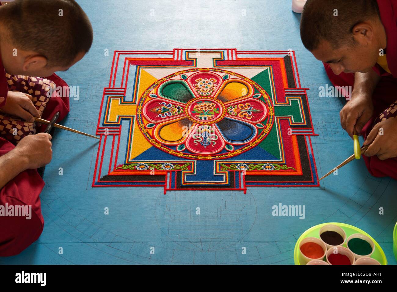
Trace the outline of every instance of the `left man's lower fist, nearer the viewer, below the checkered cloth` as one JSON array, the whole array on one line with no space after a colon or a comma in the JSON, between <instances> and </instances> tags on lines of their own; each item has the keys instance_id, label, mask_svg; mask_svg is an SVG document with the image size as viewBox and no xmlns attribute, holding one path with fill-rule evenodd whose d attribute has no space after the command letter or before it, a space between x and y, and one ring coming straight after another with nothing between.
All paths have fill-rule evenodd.
<instances>
[{"instance_id":1,"label":"left man's lower fist, nearer the viewer, below the checkered cloth","mask_svg":"<svg viewBox=\"0 0 397 292\"><path fill-rule=\"evenodd\" d=\"M17 152L21 163L26 163L26 169L42 167L52 159L51 138L47 133L25 136L13 151Z\"/></svg>"}]
</instances>

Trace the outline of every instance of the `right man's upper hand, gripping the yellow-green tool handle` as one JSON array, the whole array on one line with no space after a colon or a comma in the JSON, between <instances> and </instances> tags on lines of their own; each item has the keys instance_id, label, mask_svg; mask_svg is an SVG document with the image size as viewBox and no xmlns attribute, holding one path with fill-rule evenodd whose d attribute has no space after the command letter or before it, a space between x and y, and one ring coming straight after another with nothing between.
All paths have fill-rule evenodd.
<instances>
[{"instance_id":1,"label":"right man's upper hand, gripping the yellow-green tool handle","mask_svg":"<svg viewBox=\"0 0 397 292\"><path fill-rule=\"evenodd\" d=\"M354 134L360 134L373 112L372 94L353 91L351 100L339 113L341 126L353 138Z\"/></svg>"}]
</instances>

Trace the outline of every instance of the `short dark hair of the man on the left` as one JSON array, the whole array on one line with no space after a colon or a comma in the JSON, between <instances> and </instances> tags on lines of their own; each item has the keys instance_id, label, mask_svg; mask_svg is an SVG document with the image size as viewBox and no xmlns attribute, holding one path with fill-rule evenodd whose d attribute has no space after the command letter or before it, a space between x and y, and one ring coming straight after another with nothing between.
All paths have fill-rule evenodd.
<instances>
[{"instance_id":1,"label":"short dark hair of the man on the left","mask_svg":"<svg viewBox=\"0 0 397 292\"><path fill-rule=\"evenodd\" d=\"M93 42L91 23L74 0L15 0L0 6L0 21L7 40L43 55L48 66L71 65Z\"/></svg>"}]
</instances>

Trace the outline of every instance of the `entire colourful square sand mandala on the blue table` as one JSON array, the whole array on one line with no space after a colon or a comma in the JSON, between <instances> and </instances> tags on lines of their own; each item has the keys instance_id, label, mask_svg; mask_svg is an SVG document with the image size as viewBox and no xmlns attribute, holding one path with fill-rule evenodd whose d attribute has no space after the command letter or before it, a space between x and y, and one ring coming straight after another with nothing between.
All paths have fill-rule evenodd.
<instances>
[{"instance_id":1,"label":"entire colourful square sand mandala on the blue table","mask_svg":"<svg viewBox=\"0 0 397 292\"><path fill-rule=\"evenodd\" d=\"M110 76L94 187L318 186L291 52L116 51Z\"/></svg>"}]
</instances>

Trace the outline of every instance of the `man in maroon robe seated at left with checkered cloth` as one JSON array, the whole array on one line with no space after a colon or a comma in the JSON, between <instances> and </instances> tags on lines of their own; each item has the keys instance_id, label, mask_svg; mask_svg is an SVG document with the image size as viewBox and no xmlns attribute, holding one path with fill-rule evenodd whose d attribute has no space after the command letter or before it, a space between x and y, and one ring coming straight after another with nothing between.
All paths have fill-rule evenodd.
<instances>
[{"instance_id":1,"label":"man in maroon robe seated at left with checkered cloth","mask_svg":"<svg viewBox=\"0 0 397 292\"><path fill-rule=\"evenodd\" d=\"M63 15L59 15L60 10ZM15 88L7 83L6 72L50 76L46 79L56 86L67 86L54 72L66 71L81 60L92 41L91 23L74 0L15 0L0 6L1 113L28 122L40 116L31 95L10 91ZM47 102L42 118L51 119L57 111L60 119L67 115L68 96L55 93ZM50 140L50 134L32 134L14 146L0 136L0 256L19 254L43 230L39 194L44 181L37 168L52 158Z\"/></svg>"}]
</instances>

